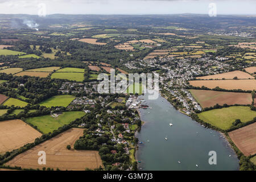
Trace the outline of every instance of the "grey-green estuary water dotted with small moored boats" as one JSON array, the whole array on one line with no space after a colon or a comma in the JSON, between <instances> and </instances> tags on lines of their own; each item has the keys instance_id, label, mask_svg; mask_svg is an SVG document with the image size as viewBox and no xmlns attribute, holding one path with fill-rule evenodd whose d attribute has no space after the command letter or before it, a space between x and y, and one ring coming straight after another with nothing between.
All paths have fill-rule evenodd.
<instances>
[{"instance_id":1,"label":"grey-green estuary water dotted with small moored boats","mask_svg":"<svg viewBox=\"0 0 256 182\"><path fill-rule=\"evenodd\" d=\"M136 137L138 168L142 170L238 170L239 160L221 133L206 129L177 111L165 98L147 100L152 109L141 109L144 125ZM170 126L172 123L172 126ZM165 139L167 138L167 140ZM217 164L209 164L210 151ZM211 160L212 161L212 160Z\"/></svg>"}]
</instances>

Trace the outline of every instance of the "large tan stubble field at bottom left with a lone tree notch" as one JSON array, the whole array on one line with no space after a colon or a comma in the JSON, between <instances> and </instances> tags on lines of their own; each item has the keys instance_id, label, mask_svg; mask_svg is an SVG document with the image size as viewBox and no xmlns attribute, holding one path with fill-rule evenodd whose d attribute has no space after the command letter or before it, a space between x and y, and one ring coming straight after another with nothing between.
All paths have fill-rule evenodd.
<instances>
[{"instance_id":1,"label":"large tan stubble field at bottom left with a lone tree notch","mask_svg":"<svg viewBox=\"0 0 256 182\"><path fill-rule=\"evenodd\" d=\"M5 165L22 168L59 168L60 170L82 171L85 168L98 168L102 161L98 151L68 150L67 145L73 148L76 140L83 135L83 129L69 129L46 142L31 148L16 156ZM38 164L38 152L46 152L46 164Z\"/></svg>"}]
</instances>

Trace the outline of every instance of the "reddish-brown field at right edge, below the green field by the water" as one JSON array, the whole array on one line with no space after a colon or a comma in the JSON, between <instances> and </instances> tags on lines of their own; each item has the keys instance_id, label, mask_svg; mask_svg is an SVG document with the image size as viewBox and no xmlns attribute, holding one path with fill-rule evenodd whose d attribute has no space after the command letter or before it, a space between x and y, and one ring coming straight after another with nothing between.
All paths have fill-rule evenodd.
<instances>
[{"instance_id":1,"label":"reddish-brown field at right edge, below the green field by the water","mask_svg":"<svg viewBox=\"0 0 256 182\"><path fill-rule=\"evenodd\" d=\"M231 131L228 134L245 156L256 153L256 123Z\"/></svg>"}]
</instances>

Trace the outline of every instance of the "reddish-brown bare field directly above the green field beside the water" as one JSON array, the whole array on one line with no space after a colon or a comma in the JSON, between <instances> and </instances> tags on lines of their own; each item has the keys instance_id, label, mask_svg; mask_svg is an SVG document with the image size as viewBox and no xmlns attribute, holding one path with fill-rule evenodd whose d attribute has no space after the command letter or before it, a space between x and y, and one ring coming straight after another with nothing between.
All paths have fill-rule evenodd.
<instances>
[{"instance_id":1,"label":"reddish-brown bare field directly above the green field beside the water","mask_svg":"<svg viewBox=\"0 0 256 182\"><path fill-rule=\"evenodd\" d=\"M213 90L189 90L199 104L205 108L218 105L251 104L250 93L218 92Z\"/></svg>"}]
</instances>

